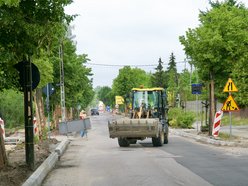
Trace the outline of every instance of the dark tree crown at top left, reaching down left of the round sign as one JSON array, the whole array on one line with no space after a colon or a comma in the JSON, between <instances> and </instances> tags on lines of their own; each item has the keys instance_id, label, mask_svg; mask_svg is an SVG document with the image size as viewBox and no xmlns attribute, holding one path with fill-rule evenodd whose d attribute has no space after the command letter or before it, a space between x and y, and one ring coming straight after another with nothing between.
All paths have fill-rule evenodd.
<instances>
[{"instance_id":1,"label":"dark tree crown at top left, reaching down left of the round sign","mask_svg":"<svg viewBox=\"0 0 248 186\"><path fill-rule=\"evenodd\" d=\"M15 63L39 54L40 49L48 51L52 45L58 46L66 25L75 17L64 12L64 7L70 3L72 0L1 1L0 53L3 63L0 76L4 78L3 82L8 82L5 87L17 84Z\"/></svg>"}]
</instances>

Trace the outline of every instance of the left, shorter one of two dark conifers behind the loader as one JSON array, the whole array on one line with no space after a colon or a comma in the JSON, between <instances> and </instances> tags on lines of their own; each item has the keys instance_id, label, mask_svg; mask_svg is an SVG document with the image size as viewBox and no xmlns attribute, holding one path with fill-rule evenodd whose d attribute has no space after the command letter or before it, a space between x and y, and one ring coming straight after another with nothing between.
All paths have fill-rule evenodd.
<instances>
[{"instance_id":1,"label":"left, shorter one of two dark conifers behind the loader","mask_svg":"<svg viewBox=\"0 0 248 186\"><path fill-rule=\"evenodd\" d=\"M163 87L167 88L167 76L165 71L163 70L163 62L161 58L158 60L158 66L155 68L156 72L152 74L151 84L153 87Z\"/></svg>"}]
</instances>

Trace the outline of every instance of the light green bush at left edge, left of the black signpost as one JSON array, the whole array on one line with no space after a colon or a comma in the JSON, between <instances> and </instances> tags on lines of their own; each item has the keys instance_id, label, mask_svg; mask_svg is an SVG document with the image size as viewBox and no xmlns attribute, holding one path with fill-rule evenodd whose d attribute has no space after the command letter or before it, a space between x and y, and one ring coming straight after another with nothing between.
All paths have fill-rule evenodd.
<instances>
[{"instance_id":1,"label":"light green bush at left edge, left of the black signpost","mask_svg":"<svg viewBox=\"0 0 248 186\"><path fill-rule=\"evenodd\" d=\"M0 92L0 112L6 128L24 126L23 94L15 90Z\"/></svg>"}]
</instances>

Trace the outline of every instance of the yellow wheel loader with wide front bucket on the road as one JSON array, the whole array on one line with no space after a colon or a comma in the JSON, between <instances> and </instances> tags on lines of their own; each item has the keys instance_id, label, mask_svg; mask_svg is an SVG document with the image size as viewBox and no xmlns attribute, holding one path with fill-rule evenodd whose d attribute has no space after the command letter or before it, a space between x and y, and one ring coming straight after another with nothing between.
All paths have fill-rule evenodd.
<instances>
[{"instance_id":1,"label":"yellow wheel loader with wide front bucket on the road","mask_svg":"<svg viewBox=\"0 0 248 186\"><path fill-rule=\"evenodd\" d=\"M120 147L152 138L155 147L168 143L168 107L163 88L133 88L130 117L108 121L110 138Z\"/></svg>"}]
</instances>

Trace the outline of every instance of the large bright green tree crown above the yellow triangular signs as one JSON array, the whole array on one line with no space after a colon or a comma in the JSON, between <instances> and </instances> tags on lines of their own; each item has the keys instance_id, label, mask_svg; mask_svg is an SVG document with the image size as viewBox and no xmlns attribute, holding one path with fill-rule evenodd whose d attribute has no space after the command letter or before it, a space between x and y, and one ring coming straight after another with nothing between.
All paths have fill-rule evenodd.
<instances>
[{"instance_id":1,"label":"large bright green tree crown above the yellow triangular signs","mask_svg":"<svg viewBox=\"0 0 248 186\"><path fill-rule=\"evenodd\" d=\"M237 100L241 101L241 107L245 107L248 105L247 83L244 83L248 78L248 10L233 0L211 2L210 5L212 9L200 12L199 27L189 29L186 36L179 38L180 42L198 69L200 78L208 82L209 75L212 75L215 93L222 93L228 77L239 82ZM223 94L216 96L221 101L225 97Z\"/></svg>"}]
</instances>

